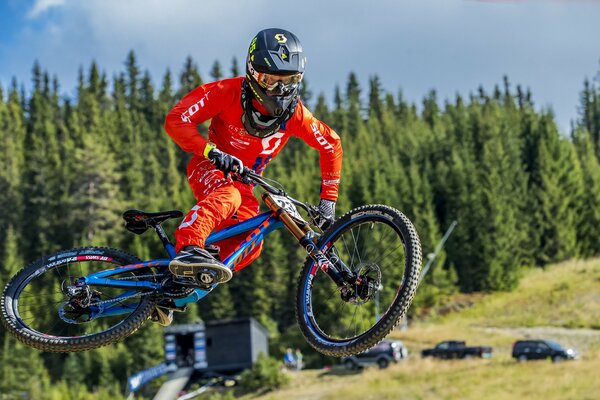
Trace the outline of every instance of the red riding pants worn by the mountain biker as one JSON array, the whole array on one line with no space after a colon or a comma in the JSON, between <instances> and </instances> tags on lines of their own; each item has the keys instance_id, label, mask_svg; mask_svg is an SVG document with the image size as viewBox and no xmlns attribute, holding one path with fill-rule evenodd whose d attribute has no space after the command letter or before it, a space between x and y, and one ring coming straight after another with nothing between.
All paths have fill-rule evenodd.
<instances>
[{"instance_id":1,"label":"red riding pants worn by the mountain biker","mask_svg":"<svg viewBox=\"0 0 600 400\"><path fill-rule=\"evenodd\" d=\"M224 179L208 160L194 157L187 167L188 182L198 204L175 231L176 251L185 246L204 247L204 241L215 229L221 230L258 214L258 200L252 188L231 179ZM229 256L245 239L247 233L215 243L220 247L221 259ZM259 256L262 243L256 246L243 260L236 264L240 270Z\"/></svg>"}]
</instances>

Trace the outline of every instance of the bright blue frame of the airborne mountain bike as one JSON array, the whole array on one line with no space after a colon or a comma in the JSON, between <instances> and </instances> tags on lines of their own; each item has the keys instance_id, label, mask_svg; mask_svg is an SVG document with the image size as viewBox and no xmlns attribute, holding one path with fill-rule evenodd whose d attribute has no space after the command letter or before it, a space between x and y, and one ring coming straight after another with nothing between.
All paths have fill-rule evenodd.
<instances>
[{"instance_id":1,"label":"bright blue frame of the airborne mountain bike","mask_svg":"<svg viewBox=\"0 0 600 400\"><path fill-rule=\"evenodd\" d=\"M221 240L229 239L233 236L250 232L242 241L242 243L240 243L240 245L223 260L223 264L225 264L232 270L235 270L235 266L239 264L240 261L243 260L244 257L246 257L254 248L256 248L256 246L258 246L269 233L283 226L283 222L276 215L276 213L269 211L259 214L245 221L242 221L240 223L237 223L235 225L232 225L230 227L227 227L225 229L222 229L220 231L213 232L211 235L208 236L205 244L211 245ZM128 308L126 306L120 306L117 304L121 300L131 297L135 293L139 292L140 289L156 290L161 287L159 283L150 281L123 281L111 279L113 275L123 274L130 271L136 271L143 268L156 268L159 272L164 272L164 270L168 268L171 259L175 257L175 246L173 246L173 244L170 242L163 228L160 225L154 226L154 229L156 230L157 234L163 242L163 246L169 256L168 259L155 259L143 261L141 263L136 264L123 265L109 270L96 272L81 278L82 284L90 286L110 286L135 289L124 292L120 296L117 296L114 299L112 299L111 303L114 303L115 305L111 305L106 308L97 307L97 310L92 309L93 317L98 317L100 315L111 316L130 313L131 308ZM213 285L211 290L214 289L216 286L216 284ZM196 302L202 299L208 293L210 293L210 290L194 289L194 291L189 296L181 299L175 299L174 302L177 307L182 307L187 303Z\"/></svg>"}]
</instances>

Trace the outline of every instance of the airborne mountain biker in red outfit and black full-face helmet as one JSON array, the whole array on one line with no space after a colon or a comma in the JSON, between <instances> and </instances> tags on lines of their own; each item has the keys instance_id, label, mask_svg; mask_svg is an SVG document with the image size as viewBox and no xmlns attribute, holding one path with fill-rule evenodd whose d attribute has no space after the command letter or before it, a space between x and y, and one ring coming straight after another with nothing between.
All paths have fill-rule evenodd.
<instances>
[{"instance_id":1,"label":"airborne mountain biker in red outfit and black full-face helmet","mask_svg":"<svg viewBox=\"0 0 600 400\"><path fill-rule=\"evenodd\" d=\"M231 279L232 271L204 248L205 240L212 230L259 211L252 186L232 180L231 173L244 166L262 173L292 136L320 152L319 209L325 216L320 223L334 218L342 147L339 136L313 117L299 98L305 63L296 35L284 29L262 30L250 43L245 77L199 86L168 113L165 130L194 154L187 177L198 201L175 232L177 255L169 264L175 276L197 278L204 285ZM209 119L206 140L197 125ZM237 236L216 243L220 256L231 254L242 240ZM260 250L260 245L255 247L235 270L250 264Z\"/></svg>"}]
</instances>

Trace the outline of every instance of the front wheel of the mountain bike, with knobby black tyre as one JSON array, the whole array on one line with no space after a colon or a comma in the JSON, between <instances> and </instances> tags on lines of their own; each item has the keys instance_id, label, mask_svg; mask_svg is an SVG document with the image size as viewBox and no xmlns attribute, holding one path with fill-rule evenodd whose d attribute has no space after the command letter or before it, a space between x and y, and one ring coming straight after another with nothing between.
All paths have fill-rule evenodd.
<instances>
[{"instance_id":1,"label":"front wheel of the mountain bike, with knobby black tyre","mask_svg":"<svg viewBox=\"0 0 600 400\"><path fill-rule=\"evenodd\" d=\"M361 353L406 315L421 270L421 244L410 220L384 205L355 208L317 242L328 259L341 260L352 282L340 289L307 259L296 294L296 318L317 351L334 356Z\"/></svg>"}]
</instances>

